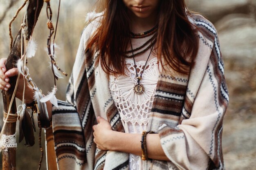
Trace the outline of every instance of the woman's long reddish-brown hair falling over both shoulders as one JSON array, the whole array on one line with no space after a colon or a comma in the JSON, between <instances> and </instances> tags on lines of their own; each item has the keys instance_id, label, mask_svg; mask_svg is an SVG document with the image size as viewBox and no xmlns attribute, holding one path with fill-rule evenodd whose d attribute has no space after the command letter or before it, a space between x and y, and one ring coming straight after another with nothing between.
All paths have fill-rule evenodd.
<instances>
[{"instance_id":1,"label":"woman's long reddish-brown hair falling over both shoulders","mask_svg":"<svg viewBox=\"0 0 256 170\"><path fill-rule=\"evenodd\" d=\"M87 49L97 46L101 66L106 73L124 74L124 52L130 36L128 9L122 0L104 2L103 19L88 41ZM188 15L191 14L184 0L159 1L155 44L157 57L162 66L164 63L168 64L180 73L189 73L189 68L198 53L197 29L188 19Z\"/></svg>"}]
</instances>

